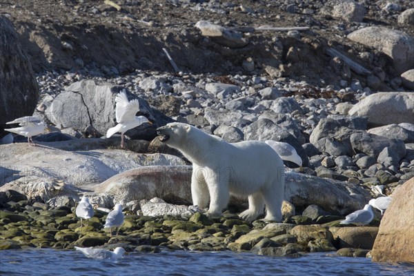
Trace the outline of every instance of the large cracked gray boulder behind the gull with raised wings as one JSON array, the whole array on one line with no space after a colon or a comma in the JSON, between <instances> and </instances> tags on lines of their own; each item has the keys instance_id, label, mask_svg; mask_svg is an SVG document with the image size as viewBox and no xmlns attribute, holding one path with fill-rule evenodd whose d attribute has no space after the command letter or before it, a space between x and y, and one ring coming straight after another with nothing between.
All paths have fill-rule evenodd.
<instances>
[{"instance_id":1,"label":"large cracked gray boulder behind the gull with raised wings","mask_svg":"<svg viewBox=\"0 0 414 276\"><path fill-rule=\"evenodd\" d=\"M108 128L115 126L115 97L123 90L122 86L111 83L97 83L84 79L72 83L65 92L60 93L46 110L50 121L63 128L84 130L93 126L100 135L105 135ZM164 115L150 108L148 103L127 91L128 99L138 99L139 113L155 121L154 126L144 124L128 130L126 135L133 139L152 140L156 135L156 126L162 126L169 121Z\"/></svg>"}]
</instances>

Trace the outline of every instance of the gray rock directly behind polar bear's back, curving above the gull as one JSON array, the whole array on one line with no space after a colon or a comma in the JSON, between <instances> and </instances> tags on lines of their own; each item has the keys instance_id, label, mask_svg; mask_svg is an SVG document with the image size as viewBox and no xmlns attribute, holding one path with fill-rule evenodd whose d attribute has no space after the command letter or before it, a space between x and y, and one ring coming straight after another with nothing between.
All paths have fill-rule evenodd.
<instances>
[{"instance_id":1,"label":"gray rock directly behind polar bear's back, curving above the gull","mask_svg":"<svg viewBox=\"0 0 414 276\"><path fill-rule=\"evenodd\" d=\"M253 124L246 126L243 132L245 140L273 140L290 144L290 146L295 148L297 155L304 161L303 166L308 166L308 157L299 141L287 130L273 123L273 121L269 119L258 119Z\"/></svg>"}]
</instances>

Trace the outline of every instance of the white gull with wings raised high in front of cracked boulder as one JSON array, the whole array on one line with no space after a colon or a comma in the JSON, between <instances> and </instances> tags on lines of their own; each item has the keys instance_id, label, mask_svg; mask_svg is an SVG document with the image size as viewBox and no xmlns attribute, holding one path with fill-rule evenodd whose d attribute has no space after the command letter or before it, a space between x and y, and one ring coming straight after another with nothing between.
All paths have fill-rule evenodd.
<instances>
[{"instance_id":1,"label":"white gull with wings raised high in front of cracked boulder","mask_svg":"<svg viewBox=\"0 0 414 276\"><path fill-rule=\"evenodd\" d=\"M128 101L125 90L118 93L117 97L115 97L115 103L115 119L117 119L118 124L108 129L106 138L111 137L117 132L121 132L121 148L124 148L124 133L127 130L141 126L144 123L152 123L144 116L135 116L139 111L139 101L137 99Z\"/></svg>"}]
</instances>

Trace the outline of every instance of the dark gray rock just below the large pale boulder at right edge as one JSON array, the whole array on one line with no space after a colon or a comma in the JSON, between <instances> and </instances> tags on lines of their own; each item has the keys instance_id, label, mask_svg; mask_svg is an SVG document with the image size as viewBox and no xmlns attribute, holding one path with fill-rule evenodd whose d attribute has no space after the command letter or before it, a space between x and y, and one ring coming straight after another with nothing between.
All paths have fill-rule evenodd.
<instances>
[{"instance_id":1,"label":"dark gray rock just below the large pale boulder at right edge","mask_svg":"<svg viewBox=\"0 0 414 276\"><path fill-rule=\"evenodd\" d=\"M404 142L400 139L387 139L386 137L373 135L370 133L354 133L351 135L351 144L355 152L363 152L375 159L378 158L380 152L390 147L402 159L406 154Z\"/></svg>"}]
</instances>

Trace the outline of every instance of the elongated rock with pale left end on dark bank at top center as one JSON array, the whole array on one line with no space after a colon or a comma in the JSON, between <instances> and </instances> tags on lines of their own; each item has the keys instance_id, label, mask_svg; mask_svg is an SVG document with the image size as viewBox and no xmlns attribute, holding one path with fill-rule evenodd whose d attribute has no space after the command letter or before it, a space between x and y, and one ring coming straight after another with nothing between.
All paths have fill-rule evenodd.
<instances>
[{"instance_id":1,"label":"elongated rock with pale left end on dark bank at top center","mask_svg":"<svg viewBox=\"0 0 414 276\"><path fill-rule=\"evenodd\" d=\"M228 30L208 21L198 21L195 24L195 27L201 30L201 34L204 35L204 37L210 37L215 43L219 43L229 48L242 48L248 43L247 39L244 39L240 32Z\"/></svg>"}]
</instances>

